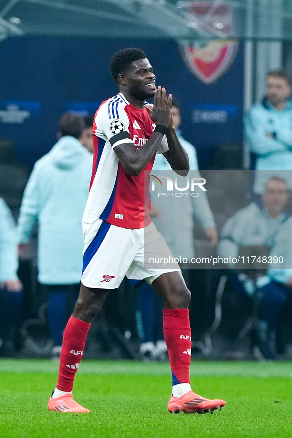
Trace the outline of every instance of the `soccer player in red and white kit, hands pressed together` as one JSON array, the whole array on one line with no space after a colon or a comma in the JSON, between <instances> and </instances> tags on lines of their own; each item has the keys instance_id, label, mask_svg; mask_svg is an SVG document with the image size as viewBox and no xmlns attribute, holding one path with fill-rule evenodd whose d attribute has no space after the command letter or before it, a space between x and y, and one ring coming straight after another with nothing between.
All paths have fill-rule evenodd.
<instances>
[{"instance_id":1,"label":"soccer player in red and white kit, hands pressed together","mask_svg":"<svg viewBox=\"0 0 292 438\"><path fill-rule=\"evenodd\" d=\"M191 297L179 266L146 269L143 263L153 242L160 244L161 254L172 256L149 218L149 176L145 183L143 170L151 170L158 149L172 169L181 175L189 170L188 156L172 126L171 95L167 99L165 88L156 88L152 66L140 49L117 52L110 70L120 92L103 102L95 115L93 173L83 216L81 288L64 331L57 386L48 409L89 412L74 401L73 380L90 321L109 289L117 288L126 275L145 279L164 300L163 328L173 381L168 410L212 412L225 401L205 399L190 386ZM145 103L152 97L153 107Z\"/></svg>"}]
</instances>

